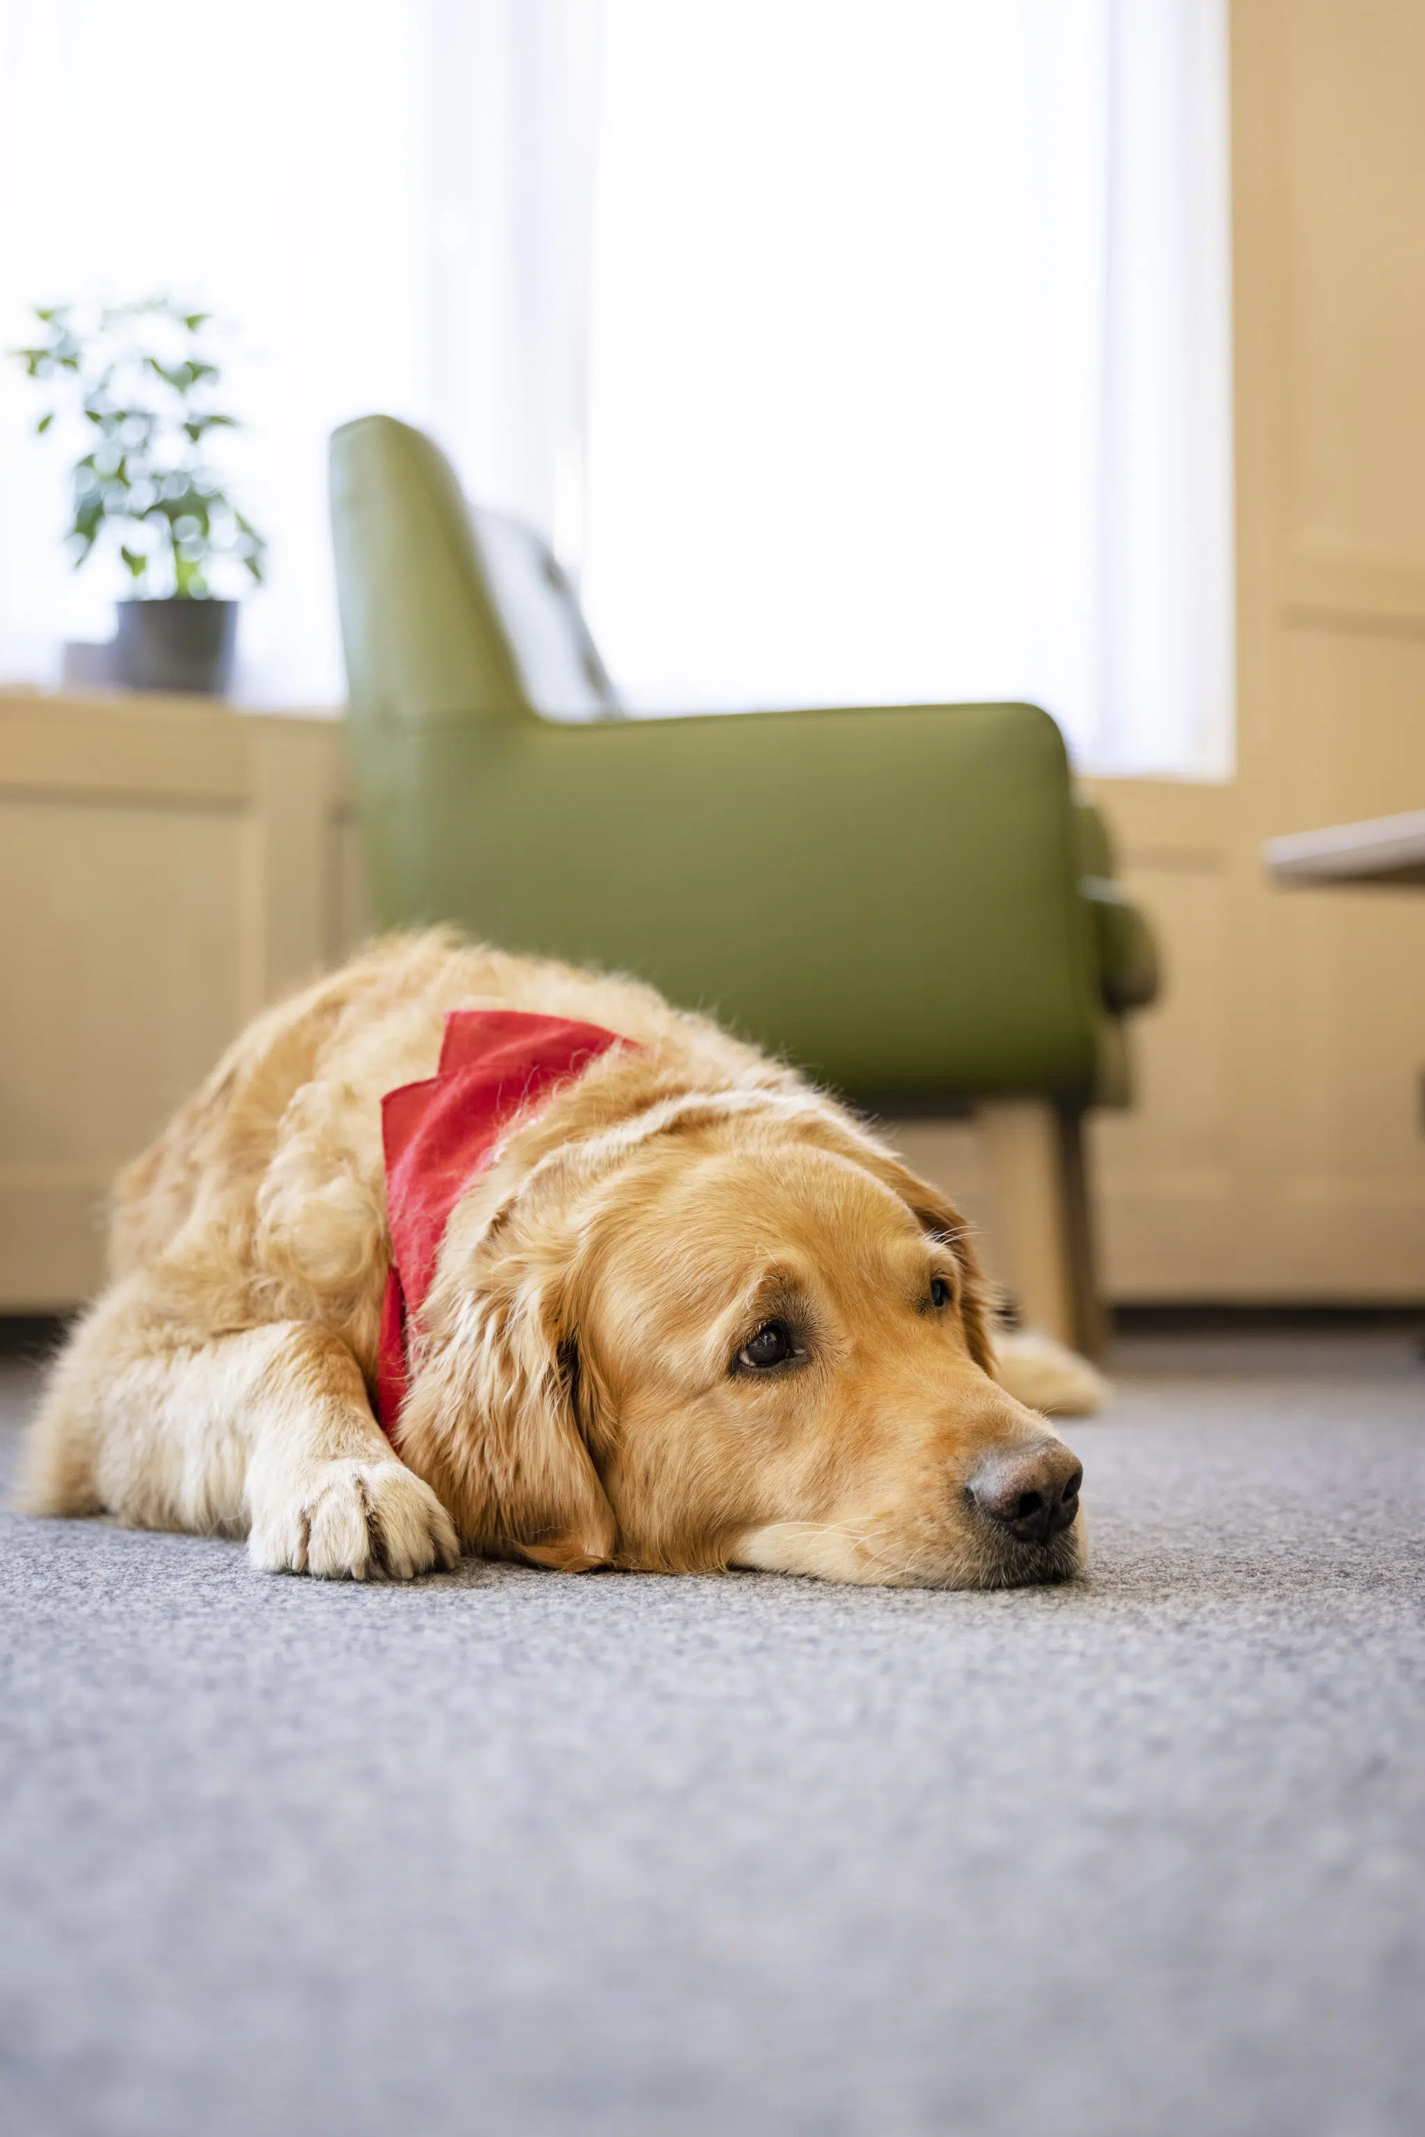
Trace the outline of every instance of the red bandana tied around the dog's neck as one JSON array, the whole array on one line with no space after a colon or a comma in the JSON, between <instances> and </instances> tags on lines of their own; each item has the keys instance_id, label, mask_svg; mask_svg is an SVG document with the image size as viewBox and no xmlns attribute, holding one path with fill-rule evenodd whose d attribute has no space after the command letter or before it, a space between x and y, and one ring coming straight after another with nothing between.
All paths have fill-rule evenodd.
<instances>
[{"instance_id":1,"label":"red bandana tied around the dog's neck","mask_svg":"<svg viewBox=\"0 0 1425 2137\"><path fill-rule=\"evenodd\" d=\"M391 1274L380 1310L376 1415L387 1438L408 1389L406 1323L425 1304L451 1210L485 1171L515 1113L620 1043L617 1032L568 1017L453 1009L438 1073L380 1101Z\"/></svg>"}]
</instances>

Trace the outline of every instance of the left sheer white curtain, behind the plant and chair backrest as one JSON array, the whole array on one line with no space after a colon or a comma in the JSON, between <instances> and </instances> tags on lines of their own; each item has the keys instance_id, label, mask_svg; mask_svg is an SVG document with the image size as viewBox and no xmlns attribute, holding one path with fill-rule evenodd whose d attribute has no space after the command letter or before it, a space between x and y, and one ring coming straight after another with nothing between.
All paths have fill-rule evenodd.
<instances>
[{"instance_id":1,"label":"left sheer white curtain, behind the plant and chair backrest","mask_svg":"<svg viewBox=\"0 0 1425 2137\"><path fill-rule=\"evenodd\" d=\"M66 297L233 323L222 459L271 541L246 703L340 703L348 417L425 423L487 502L579 521L596 28L596 0L0 0L0 348ZM53 682L124 575L62 556L36 410L0 361L0 680Z\"/></svg>"}]
</instances>

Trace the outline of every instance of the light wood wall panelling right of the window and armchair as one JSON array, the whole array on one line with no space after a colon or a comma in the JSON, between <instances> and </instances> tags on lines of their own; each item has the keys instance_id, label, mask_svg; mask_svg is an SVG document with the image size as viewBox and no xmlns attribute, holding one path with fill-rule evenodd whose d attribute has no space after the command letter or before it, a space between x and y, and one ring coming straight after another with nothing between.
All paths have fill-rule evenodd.
<instances>
[{"instance_id":1,"label":"light wood wall panelling right of the window and armchair","mask_svg":"<svg viewBox=\"0 0 1425 2137\"><path fill-rule=\"evenodd\" d=\"M1094 782L1169 985L1096 1128L1107 1282L1423 1301L1425 895L1260 846L1425 806L1425 6L1231 19L1237 774Z\"/></svg>"}]
</instances>

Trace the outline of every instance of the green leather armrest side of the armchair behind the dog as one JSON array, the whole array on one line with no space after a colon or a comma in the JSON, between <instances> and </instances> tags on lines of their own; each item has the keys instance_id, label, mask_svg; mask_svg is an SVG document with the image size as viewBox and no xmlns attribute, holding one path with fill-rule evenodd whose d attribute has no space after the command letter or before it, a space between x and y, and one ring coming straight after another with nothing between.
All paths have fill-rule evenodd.
<instances>
[{"instance_id":1,"label":"green leather armrest side of the armchair behind the dog","mask_svg":"<svg viewBox=\"0 0 1425 2137\"><path fill-rule=\"evenodd\" d=\"M1092 1090L1068 765L1034 705L355 720L376 917L622 966L842 1090Z\"/></svg>"}]
</instances>

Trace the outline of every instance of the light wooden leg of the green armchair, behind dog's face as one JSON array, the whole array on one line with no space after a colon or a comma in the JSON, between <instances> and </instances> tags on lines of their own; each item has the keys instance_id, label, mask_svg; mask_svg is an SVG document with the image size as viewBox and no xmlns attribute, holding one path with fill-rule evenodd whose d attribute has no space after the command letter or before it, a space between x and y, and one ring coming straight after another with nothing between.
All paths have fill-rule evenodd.
<instances>
[{"instance_id":1,"label":"light wooden leg of the green armchair, behind dog's face","mask_svg":"<svg viewBox=\"0 0 1425 2137\"><path fill-rule=\"evenodd\" d=\"M1021 1319L1085 1357L1102 1357L1083 1113L1049 1098L987 1098L978 1122Z\"/></svg>"}]
</instances>

